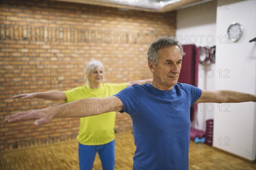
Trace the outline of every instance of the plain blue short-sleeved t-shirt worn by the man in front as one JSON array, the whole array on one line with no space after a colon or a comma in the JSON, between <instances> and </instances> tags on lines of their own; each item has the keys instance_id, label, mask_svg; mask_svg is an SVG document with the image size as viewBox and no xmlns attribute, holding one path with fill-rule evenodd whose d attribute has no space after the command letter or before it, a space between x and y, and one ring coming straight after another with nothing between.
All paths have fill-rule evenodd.
<instances>
[{"instance_id":1,"label":"plain blue short-sleeved t-shirt worn by the man in front","mask_svg":"<svg viewBox=\"0 0 256 170\"><path fill-rule=\"evenodd\" d=\"M134 170L188 170L190 107L201 89L177 83L161 91L151 84L132 85L114 96L133 122Z\"/></svg>"}]
</instances>

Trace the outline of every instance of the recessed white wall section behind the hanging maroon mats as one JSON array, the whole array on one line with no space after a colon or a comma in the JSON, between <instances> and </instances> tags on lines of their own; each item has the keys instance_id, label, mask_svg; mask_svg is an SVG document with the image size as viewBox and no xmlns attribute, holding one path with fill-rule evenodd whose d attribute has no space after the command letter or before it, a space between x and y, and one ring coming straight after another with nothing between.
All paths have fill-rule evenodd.
<instances>
[{"instance_id":1,"label":"recessed white wall section behind the hanging maroon mats","mask_svg":"<svg viewBox=\"0 0 256 170\"><path fill-rule=\"evenodd\" d=\"M176 35L182 44L195 44L201 47L212 47L216 44L216 1L209 1L197 6L177 11ZM199 64L198 88L215 89L215 65ZM214 71L214 72L212 72ZM212 76L214 73L214 76ZM207 106L207 109L206 109ZM199 104L197 117L191 122L192 127L205 130L206 120L213 119L212 105Z\"/></svg>"}]
</instances>

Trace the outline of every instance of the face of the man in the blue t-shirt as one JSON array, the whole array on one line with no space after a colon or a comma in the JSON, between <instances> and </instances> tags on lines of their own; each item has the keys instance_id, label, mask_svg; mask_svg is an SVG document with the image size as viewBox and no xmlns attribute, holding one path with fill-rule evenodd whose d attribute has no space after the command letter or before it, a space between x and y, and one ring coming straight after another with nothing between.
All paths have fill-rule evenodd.
<instances>
[{"instance_id":1,"label":"face of the man in the blue t-shirt","mask_svg":"<svg viewBox=\"0 0 256 170\"><path fill-rule=\"evenodd\" d=\"M158 63L149 61L149 68L153 72L154 81L163 89L176 85L180 75L182 53L179 47L171 46L158 51Z\"/></svg>"}]
</instances>

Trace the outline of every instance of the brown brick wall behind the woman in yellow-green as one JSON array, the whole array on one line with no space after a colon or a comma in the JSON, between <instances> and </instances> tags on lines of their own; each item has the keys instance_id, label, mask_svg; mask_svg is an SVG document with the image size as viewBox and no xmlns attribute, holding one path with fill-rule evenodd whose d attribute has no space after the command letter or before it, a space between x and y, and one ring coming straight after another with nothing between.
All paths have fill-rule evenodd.
<instances>
[{"instance_id":1,"label":"brown brick wall behind the woman in yellow-green","mask_svg":"<svg viewBox=\"0 0 256 170\"><path fill-rule=\"evenodd\" d=\"M12 99L15 94L67 90L86 81L92 59L105 66L105 82L151 78L150 43L175 34L176 13L150 13L55 1L1 1L0 12L0 150L55 144L75 139L79 119L7 124L11 113L56 108L63 102ZM131 130L128 114L117 114L116 131Z\"/></svg>"}]
</instances>

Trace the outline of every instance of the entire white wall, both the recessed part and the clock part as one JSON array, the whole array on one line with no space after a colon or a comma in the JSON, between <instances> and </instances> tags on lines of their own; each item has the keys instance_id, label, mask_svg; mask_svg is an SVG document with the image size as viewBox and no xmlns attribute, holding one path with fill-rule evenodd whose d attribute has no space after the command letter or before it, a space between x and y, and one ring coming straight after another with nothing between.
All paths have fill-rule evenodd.
<instances>
[{"instance_id":1,"label":"entire white wall, both the recessed part and the clock part","mask_svg":"<svg viewBox=\"0 0 256 170\"><path fill-rule=\"evenodd\" d=\"M177 31L183 44L197 46L216 45L216 63L199 65L199 69L212 69L214 76L199 77L198 87L206 90L229 89L256 94L256 1L218 0L211 8L210 2L197 8L177 11ZM227 39L227 28L232 22L244 26L244 34L238 42ZM200 39L200 37L204 37ZM206 37L214 36L214 41ZM197 37L195 41L192 39ZM227 70L225 70L227 69ZM210 73L210 72L209 72ZM199 75L200 76L200 75ZM201 105L206 106L206 105ZM214 119L213 147L249 160L256 158L256 104L214 104L198 111L198 123L192 126L205 130L205 120ZM208 111L207 111L208 110Z\"/></svg>"}]
</instances>

